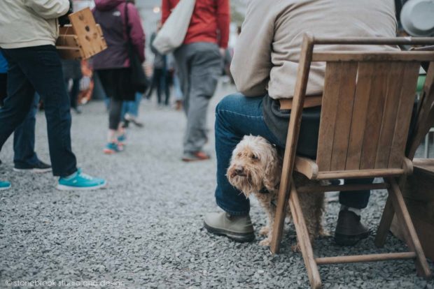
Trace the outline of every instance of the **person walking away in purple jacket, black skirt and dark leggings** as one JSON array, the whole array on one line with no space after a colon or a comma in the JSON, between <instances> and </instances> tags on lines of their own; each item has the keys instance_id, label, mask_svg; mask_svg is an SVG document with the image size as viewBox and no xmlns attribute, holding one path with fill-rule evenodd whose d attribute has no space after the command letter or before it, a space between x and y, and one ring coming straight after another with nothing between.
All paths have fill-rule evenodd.
<instances>
[{"instance_id":1,"label":"person walking away in purple jacket, black skirt and dark leggings","mask_svg":"<svg viewBox=\"0 0 434 289\"><path fill-rule=\"evenodd\" d=\"M123 150L125 130L121 123L123 101L134 101L136 92L130 84L130 57L127 41L130 38L141 62L145 61L145 34L139 11L131 1L96 0L95 21L101 25L107 49L93 58L94 71L110 98L109 134L104 154ZM127 31L130 34L127 35Z\"/></svg>"}]
</instances>

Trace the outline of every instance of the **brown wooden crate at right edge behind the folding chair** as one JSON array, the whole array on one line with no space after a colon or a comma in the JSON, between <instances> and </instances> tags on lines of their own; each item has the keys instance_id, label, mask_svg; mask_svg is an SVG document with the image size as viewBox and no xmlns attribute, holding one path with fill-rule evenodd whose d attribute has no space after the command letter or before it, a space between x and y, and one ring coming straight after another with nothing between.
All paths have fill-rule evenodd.
<instances>
[{"instance_id":1,"label":"brown wooden crate at right edge behind the folding chair","mask_svg":"<svg viewBox=\"0 0 434 289\"><path fill-rule=\"evenodd\" d=\"M413 175L407 177L402 189L414 228L427 258L434 260L434 158L414 158ZM405 241L398 221L393 218L393 235Z\"/></svg>"}]
</instances>

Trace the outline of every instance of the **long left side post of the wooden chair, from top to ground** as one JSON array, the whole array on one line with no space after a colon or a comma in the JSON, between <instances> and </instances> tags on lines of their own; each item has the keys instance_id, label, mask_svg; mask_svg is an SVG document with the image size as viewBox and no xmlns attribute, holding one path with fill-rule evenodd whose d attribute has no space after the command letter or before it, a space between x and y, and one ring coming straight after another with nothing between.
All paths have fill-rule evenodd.
<instances>
[{"instance_id":1,"label":"long left side post of the wooden chair, from top to ground","mask_svg":"<svg viewBox=\"0 0 434 289\"><path fill-rule=\"evenodd\" d=\"M304 34L300 64L298 65L297 82L295 84L295 94L293 97L293 110L290 114L288 135L286 137L286 149L283 157L279 195L277 197L276 216L274 217L271 242L272 253L279 253L280 250L283 222L285 221L286 207L289 199L290 177L293 175L304 97L306 96L311 57L314 50L314 45L312 44L313 40L314 37L311 36L311 34Z\"/></svg>"}]
</instances>

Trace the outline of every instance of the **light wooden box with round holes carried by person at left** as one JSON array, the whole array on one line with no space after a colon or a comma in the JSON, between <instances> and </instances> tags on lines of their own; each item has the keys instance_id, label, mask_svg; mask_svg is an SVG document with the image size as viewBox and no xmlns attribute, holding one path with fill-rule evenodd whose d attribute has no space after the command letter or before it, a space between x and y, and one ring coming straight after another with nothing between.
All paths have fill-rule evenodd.
<instances>
[{"instance_id":1,"label":"light wooden box with round holes carried by person at left","mask_svg":"<svg viewBox=\"0 0 434 289\"><path fill-rule=\"evenodd\" d=\"M56 48L63 59L88 59L107 48L101 27L85 8L69 15L71 25L60 27Z\"/></svg>"}]
</instances>

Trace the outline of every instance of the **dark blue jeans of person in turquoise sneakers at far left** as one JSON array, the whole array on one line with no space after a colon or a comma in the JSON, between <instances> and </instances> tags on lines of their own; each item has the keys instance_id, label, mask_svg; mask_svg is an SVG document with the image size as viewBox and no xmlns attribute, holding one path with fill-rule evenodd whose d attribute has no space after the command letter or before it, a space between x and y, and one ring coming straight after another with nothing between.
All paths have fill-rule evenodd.
<instances>
[{"instance_id":1,"label":"dark blue jeans of person in turquoise sneakers at far left","mask_svg":"<svg viewBox=\"0 0 434 289\"><path fill-rule=\"evenodd\" d=\"M71 150L70 103L56 48L42 45L3 52L9 70L8 96L0 109L0 149L26 119L36 91L44 102L53 175L73 174L77 168Z\"/></svg>"}]
</instances>

